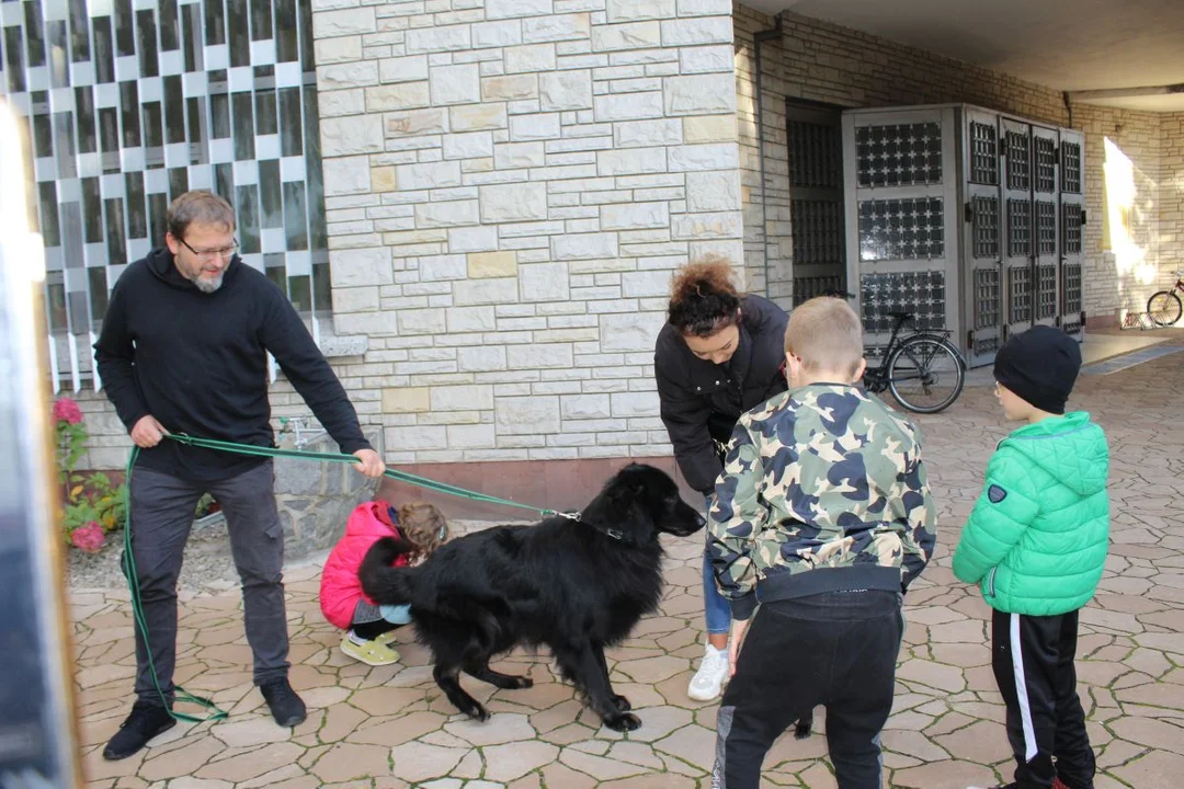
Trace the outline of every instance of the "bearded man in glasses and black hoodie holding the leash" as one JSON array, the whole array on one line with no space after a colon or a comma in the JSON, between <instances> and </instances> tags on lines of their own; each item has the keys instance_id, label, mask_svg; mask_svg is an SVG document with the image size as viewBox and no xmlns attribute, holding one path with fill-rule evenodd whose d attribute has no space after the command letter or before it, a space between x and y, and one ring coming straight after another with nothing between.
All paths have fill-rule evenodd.
<instances>
[{"instance_id":1,"label":"bearded man in glasses and black hoodie holding the leash","mask_svg":"<svg viewBox=\"0 0 1184 789\"><path fill-rule=\"evenodd\" d=\"M288 683L272 463L166 435L275 446L270 353L341 451L356 455L354 467L373 478L385 470L291 303L236 254L230 203L205 190L182 194L169 206L166 242L120 277L95 344L107 396L140 447L130 486L131 552L148 630L146 645L136 623L136 701L103 751L108 759L131 756L175 724L176 580L194 509L207 491L226 513L255 684L279 725L295 726L305 716Z\"/></svg>"}]
</instances>

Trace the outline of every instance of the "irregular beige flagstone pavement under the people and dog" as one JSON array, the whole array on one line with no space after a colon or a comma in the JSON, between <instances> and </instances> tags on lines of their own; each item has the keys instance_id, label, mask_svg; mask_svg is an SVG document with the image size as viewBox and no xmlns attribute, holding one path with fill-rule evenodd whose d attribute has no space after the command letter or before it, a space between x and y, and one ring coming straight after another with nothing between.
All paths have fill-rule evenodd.
<instances>
[{"instance_id":1,"label":"irregular beige flagstone pavement under the people and dog","mask_svg":"<svg viewBox=\"0 0 1184 789\"><path fill-rule=\"evenodd\" d=\"M1170 341L1171 342L1171 341ZM1082 612L1079 683L1098 751L1098 789L1184 785L1184 353L1112 375L1085 375L1070 407L1109 434L1112 545ZM1010 778L1003 706L990 667L987 608L958 583L950 555L1005 427L986 387L918 419L937 498L935 561L909 591L896 701L883 732L890 787L963 789ZM266 714L251 685L237 589L182 595L178 679L230 718L176 725L123 762L103 743L129 709L134 655L127 590L73 590L76 691L89 787L424 787L431 789L681 789L708 787L718 704L687 698L703 639L701 537L670 541L662 610L609 655L616 690L643 725L620 735L552 674L546 655L513 654L535 685L495 691L465 678L493 718L462 719L431 679L426 653L400 632L399 665L371 668L337 649L322 619L316 564L287 574L291 681L309 705L295 729ZM793 666L786 666L793 671ZM783 737L762 785L835 787L824 716Z\"/></svg>"}]
</instances>

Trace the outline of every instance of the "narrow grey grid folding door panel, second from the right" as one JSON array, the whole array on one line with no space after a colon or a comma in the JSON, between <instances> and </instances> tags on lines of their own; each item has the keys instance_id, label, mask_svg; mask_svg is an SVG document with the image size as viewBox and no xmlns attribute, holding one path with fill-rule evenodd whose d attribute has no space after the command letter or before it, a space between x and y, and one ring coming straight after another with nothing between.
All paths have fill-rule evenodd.
<instances>
[{"instance_id":1,"label":"narrow grey grid folding door panel, second from the right","mask_svg":"<svg viewBox=\"0 0 1184 789\"><path fill-rule=\"evenodd\" d=\"M1032 127L1032 323L1055 326L1061 304L1061 222L1057 213L1060 134Z\"/></svg>"}]
</instances>

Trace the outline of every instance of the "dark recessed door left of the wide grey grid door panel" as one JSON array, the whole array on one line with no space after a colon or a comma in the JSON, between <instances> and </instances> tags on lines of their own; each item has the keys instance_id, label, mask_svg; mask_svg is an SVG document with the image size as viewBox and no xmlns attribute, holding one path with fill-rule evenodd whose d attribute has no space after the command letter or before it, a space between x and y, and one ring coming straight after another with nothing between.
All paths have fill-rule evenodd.
<instances>
[{"instance_id":1,"label":"dark recessed door left of the wide grey grid door panel","mask_svg":"<svg viewBox=\"0 0 1184 789\"><path fill-rule=\"evenodd\" d=\"M847 289L838 109L786 102L793 303Z\"/></svg>"}]
</instances>

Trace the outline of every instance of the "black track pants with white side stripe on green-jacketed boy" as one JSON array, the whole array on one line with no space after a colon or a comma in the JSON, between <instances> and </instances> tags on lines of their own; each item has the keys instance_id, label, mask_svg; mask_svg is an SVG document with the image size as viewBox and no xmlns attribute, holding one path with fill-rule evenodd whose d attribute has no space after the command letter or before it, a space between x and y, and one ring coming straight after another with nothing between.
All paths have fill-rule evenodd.
<instances>
[{"instance_id":1,"label":"black track pants with white side stripe on green-jacketed boy","mask_svg":"<svg viewBox=\"0 0 1184 789\"><path fill-rule=\"evenodd\" d=\"M1024 616L995 612L992 667L1008 705L1017 789L1093 789L1094 751L1077 697L1077 612Z\"/></svg>"}]
</instances>

